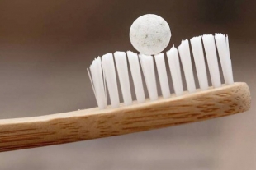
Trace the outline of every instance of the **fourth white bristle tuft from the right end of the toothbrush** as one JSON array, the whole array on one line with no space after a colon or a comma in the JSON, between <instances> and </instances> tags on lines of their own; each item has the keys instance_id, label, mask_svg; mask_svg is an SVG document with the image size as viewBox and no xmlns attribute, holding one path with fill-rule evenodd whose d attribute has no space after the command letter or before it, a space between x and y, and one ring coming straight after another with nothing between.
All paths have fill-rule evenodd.
<instances>
[{"instance_id":1,"label":"fourth white bristle tuft from the right end of the toothbrush","mask_svg":"<svg viewBox=\"0 0 256 170\"><path fill-rule=\"evenodd\" d=\"M194 75L192 70L190 49L189 49L189 44L187 39L183 40L182 44L178 46L178 52L180 54L181 61L183 64L183 70L184 70L185 79L187 83L187 91L190 93L195 92L196 85L195 85L195 80L194 80Z\"/></svg>"}]
</instances>

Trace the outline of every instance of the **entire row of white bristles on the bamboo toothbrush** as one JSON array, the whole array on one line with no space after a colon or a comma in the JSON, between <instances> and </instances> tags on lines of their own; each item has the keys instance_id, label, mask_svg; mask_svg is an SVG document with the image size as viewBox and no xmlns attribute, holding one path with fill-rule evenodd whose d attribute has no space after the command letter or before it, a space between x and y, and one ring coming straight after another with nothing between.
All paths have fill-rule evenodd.
<instances>
[{"instance_id":1,"label":"entire row of white bristles on the bamboo toothbrush","mask_svg":"<svg viewBox=\"0 0 256 170\"><path fill-rule=\"evenodd\" d=\"M192 49L190 49L189 42ZM204 50L206 53L206 61ZM111 107L117 108L120 106L117 76L119 78L121 94L125 105L132 104L129 74L131 74L135 88L137 103L145 102L145 89L142 76L145 78L145 85L149 92L150 100L154 101L159 98L157 91L158 84L160 85L162 96L164 98L171 97L165 61L168 63L171 74L171 78L169 79L172 80L174 94L176 96L183 95L183 76L181 73L180 60L183 65L187 91L193 93L197 89L192 68L192 57L195 62L199 88L201 90L208 90L209 88L206 62L209 67L212 86L214 88L220 87L221 80L218 57L220 58L220 66L225 79L225 85L234 83L230 60L229 39L227 35L205 34L193 37L190 41L187 39L183 40L178 46L178 49L173 45L173 47L166 52L166 57L167 60L164 53L155 54L153 57L145 54L138 55L137 53L128 51L127 53L116 52L114 53L114 57L112 53L107 53L102 57L94 59L91 66L88 68L88 75L92 83L92 90L97 100L98 107L101 109L107 108L107 91L110 97ZM157 75L155 74L154 60ZM128 69L128 62L130 71ZM156 81L156 76L159 76L159 82Z\"/></svg>"}]
</instances>

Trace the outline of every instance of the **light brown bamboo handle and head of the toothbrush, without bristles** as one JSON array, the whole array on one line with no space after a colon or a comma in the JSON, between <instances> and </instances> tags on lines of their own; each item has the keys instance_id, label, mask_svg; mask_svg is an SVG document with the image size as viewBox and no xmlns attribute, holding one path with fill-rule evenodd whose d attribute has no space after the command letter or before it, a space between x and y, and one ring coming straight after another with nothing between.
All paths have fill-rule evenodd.
<instances>
[{"instance_id":1,"label":"light brown bamboo handle and head of the toothbrush, without bristles","mask_svg":"<svg viewBox=\"0 0 256 170\"><path fill-rule=\"evenodd\" d=\"M250 108L246 83L197 90L193 94L132 106L90 108L41 117L0 120L0 151L57 145L79 140L148 131L215 117L243 113Z\"/></svg>"}]
</instances>

